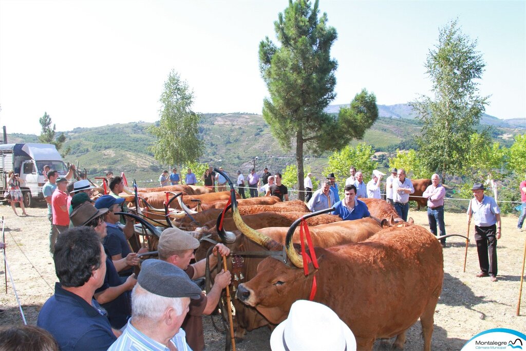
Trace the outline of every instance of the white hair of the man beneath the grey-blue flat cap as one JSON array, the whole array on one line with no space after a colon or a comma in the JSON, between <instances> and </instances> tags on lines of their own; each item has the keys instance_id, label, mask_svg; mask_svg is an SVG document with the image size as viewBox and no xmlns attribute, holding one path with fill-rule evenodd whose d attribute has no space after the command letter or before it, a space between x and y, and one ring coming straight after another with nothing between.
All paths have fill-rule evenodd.
<instances>
[{"instance_id":1,"label":"white hair of the man beneath the grey-blue flat cap","mask_svg":"<svg viewBox=\"0 0 526 351\"><path fill-rule=\"evenodd\" d=\"M184 313L183 297L165 297L150 293L137 283L131 291L131 315L158 322L168 307L180 316Z\"/></svg>"}]
</instances>

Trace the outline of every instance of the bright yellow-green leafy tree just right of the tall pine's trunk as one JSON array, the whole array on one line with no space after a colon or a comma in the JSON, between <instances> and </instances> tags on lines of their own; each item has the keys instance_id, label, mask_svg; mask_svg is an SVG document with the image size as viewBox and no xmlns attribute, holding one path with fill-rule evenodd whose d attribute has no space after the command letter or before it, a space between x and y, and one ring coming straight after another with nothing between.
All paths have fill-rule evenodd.
<instances>
[{"instance_id":1,"label":"bright yellow-green leafy tree just right of the tall pine's trunk","mask_svg":"<svg viewBox=\"0 0 526 351\"><path fill-rule=\"evenodd\" d=\"M323 169L323 175L334 173L336 182L340 184L340 193L343 194L343 184L349 177L349 168L355 166L363 173L364 179L370 177L372 170L375 169L375 163L372 161L374 154L372 147L365 143L359 143L356 147L347 145L341 151L336 151L329 156L327 167Z\"/></svg>"}]
</instances>

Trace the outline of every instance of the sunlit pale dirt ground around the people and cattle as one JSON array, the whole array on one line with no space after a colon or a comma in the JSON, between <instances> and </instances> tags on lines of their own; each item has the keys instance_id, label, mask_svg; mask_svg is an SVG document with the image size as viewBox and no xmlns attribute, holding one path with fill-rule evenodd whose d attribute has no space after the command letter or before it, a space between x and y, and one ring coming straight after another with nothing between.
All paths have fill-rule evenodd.
<instances>
[{"instance_id":1,"label":"sunlit pale dirt ground around the people and cattle","mask_svg":"<svg viewBox=\"0 0 526 351\"><path fill-rule=\"evenodd\" d=\"M0 216L4 217L5 224L5 241L8 244L7 264L28 324L36 323L38 312L53 294L56 281L52 258L48 253L49 222L46 211L44 207L29 208L28 217L16 217L11 207L0 205ZM21 211L18 210L18 213ZM416 224L427 227L425 211L411 211L410 216ZM521 315L515 315L526 232L517 232L516 226L517 217L503 217L502 239L498 245L499 280L496 283L491 283L489 278L474 276L479 272L479 266L473 242L469 245L466 273L463 273L465 241L460 237L448 238L448 246L443 251L443 290L434 315L433 349L459 350L472 336L490 328L511 328L526 332L526 291L522 295ZM465 215L446 213L448 234L465 235L466 229ZM473 237L473 228L470 237ZM0 267L2 280L5 274L4 267ZM2 290L0 325L23 323L9 276L7 293L3 286ZM224 349L225 335L215 331L210 317L204 317L204 324L207 349ZM420 333L420 323L417 322L408 331L406 350L422 349ZM236 346L240 351L268 350L269 338L270 330L260 328L248 333L245 340ZM375 344L375 349L388 347L386 343Z\"/></svg>"}]
</instances>

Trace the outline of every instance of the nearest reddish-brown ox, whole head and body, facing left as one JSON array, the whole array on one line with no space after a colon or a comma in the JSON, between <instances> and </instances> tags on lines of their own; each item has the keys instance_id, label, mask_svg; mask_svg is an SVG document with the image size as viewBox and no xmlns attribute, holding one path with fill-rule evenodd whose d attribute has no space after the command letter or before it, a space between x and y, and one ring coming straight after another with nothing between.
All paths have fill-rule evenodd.
<instances>
[{"instance_id":1,"label":"nearest reddish-brown ox, whole head and body, facing left","mask_svg":"<svg viewBox=\"0 0 526 351\"><path fill-rule=\"evenodd\" d=\"M257 276L239 285L238 298L277 324L287 317L292 303L309 297L316 276L314 300L332 308L349 326L358 349L371 350L376 338L393 336L397 336L393 346L403 347L405 331L418 318L424 349L431 349L444 272L442 248L427 229L391 227L365 242L315 250L316 274L305 277L302 268L266 258L258 265ZM298 259L294 258L297 266ZM309 270L313 272L312 264Z\"/></svg>"}]
</instances>

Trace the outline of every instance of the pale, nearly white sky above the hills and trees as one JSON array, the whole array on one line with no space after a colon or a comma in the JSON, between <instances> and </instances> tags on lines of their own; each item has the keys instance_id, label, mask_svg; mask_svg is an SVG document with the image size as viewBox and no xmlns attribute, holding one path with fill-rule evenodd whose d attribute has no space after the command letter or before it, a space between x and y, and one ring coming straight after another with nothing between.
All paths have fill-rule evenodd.
<instances>
[{"instance_id":1,"label":"pale, nearly white sky above the hills and trees","mask_svg":"<svg viewBox=\"0 0 526 351\"><path fill-rule=\"evenodd\" d=\"M40 133L154 122L171 69L194 90L196 112L261 113L267 89L258 46L288 1L0 0L0 126ZM379 104L429 94L426 55L458 18L486 63L486 112L526 117L526 2L320 0L338 32L337 97L362 88Z\"/></svg>"}]
</instances>

